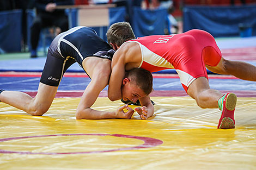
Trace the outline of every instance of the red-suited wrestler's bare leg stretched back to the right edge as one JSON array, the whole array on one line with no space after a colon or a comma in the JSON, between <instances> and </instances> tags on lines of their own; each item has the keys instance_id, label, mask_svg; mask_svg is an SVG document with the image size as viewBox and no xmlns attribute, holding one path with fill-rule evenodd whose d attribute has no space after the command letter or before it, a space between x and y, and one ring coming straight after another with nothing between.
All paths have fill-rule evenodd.
<instances>
[{"instance_id":1,"label":"red-suited wrestler's bare leg stretched back to the right edge","mask_svg":"<svg viewBox=\"0 0 256 170\"><path fill-rule=\"evenodd\" d=\"M256 81L256 67L243 61L231 61L224 58L217 66L206 65L211 72L218 74L231 74L242 80Z\"/></svg>"}]
</instances>

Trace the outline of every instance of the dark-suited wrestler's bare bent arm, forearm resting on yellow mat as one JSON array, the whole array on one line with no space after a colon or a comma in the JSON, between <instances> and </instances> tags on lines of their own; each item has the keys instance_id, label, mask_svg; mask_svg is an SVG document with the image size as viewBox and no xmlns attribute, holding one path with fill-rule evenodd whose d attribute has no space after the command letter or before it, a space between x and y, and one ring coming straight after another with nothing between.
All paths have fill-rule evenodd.
<instances>
[{"instance_id":1,"label":"dark-suited wrestler's bare bent arm, forearm resting on yellow mat","mask_svg":"<svg viewBox=\"0 0 256 170\"><path fill-rule=\"evenodd\" d=\"M83 96L76 110L77 119L104 119L104 118L126 118L130 119L133 115L133 110L124 105L116 111L97 111L90 107L95 103L100 92L108 84L108 78L111 72L111 61L108 59L100 59L90 57L84 59L83 67L92 78L92 81L86 87ZM125 113L123 109L128 111Z\"/></svg>"}]
</instances>

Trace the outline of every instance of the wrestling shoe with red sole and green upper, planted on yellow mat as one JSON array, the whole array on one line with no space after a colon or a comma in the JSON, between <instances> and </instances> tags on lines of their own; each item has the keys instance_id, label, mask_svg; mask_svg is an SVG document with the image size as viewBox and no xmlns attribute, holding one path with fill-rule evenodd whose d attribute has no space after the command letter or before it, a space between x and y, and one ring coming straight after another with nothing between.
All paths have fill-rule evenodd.
<instances>
[{"instance_id":1,"label":"wrestling shoe with red sole and green upper, planted on yellow mat","mask_svg":"<svg viewBox=\"0 0 256 170\"><path fill-rule=\"evenodd\" d=\"M220 121L218 122L218 129L232 129L235 128L235 105L236 95L234 93L227 93L218 100L218 105L222 110Z\"/></svg>"}]
</instances>

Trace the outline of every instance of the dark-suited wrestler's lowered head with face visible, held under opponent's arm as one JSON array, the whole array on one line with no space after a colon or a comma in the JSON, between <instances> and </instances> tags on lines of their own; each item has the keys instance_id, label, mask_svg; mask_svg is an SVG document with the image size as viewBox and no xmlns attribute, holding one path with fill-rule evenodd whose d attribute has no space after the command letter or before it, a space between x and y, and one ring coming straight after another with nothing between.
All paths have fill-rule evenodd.
<instances>
[{"instance_id":1,"label":"dark-suited wrestler's lowered head with face visible, held under opponent's arm","mask_svg":"<svg viewBox=\"0 0 256 170\"><path fill-rule=\"evenodd\" d=\"M138 98L148 96L153 90L153 76L143 68L127 71L123 79L121 91L124 100L136 102Z\"/></svg>"}]
</instances>

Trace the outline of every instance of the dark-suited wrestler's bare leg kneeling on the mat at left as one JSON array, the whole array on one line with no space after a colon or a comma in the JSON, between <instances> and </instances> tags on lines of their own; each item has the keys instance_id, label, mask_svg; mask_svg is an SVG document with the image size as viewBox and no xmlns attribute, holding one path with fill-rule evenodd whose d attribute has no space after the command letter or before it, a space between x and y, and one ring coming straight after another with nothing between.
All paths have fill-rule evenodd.
<instances>
[{"instance_id":1,"label":"dark-suited wrestler's bare leg kneeling on the mat at left","mask_svg":"<svg viewBox=\"0 0 256 170\"><path fill-rule=\"evenodd\" d=\"M58 87L39 83L38 93L34 98L23 92L3 91L0 100L28 114L41 116L50 108L57 89Z\"/></svg>"}]
</instances>

